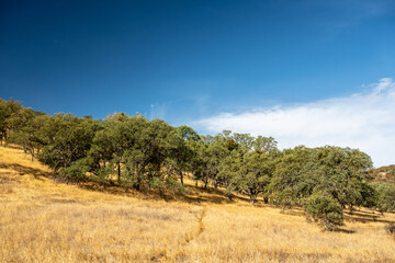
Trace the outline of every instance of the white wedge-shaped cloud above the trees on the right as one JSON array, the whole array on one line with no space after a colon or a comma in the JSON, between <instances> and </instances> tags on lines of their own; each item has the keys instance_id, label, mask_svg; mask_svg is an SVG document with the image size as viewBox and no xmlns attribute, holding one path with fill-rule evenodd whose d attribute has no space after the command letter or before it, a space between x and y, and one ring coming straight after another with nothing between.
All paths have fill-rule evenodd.
<instances>
[{"instance_id":1,"label":"white wedge-shaped cloud above the trees on the right","mask_svg":"<svg viewBox=\"0 0 395 263\"><path fill-rule=\"evenodd\" d=\"M395 82L383 78L369 92L291 106L222 113L194 124L200 129L272 136L280 148L334 145L358 148L374 165L395 163Z\"/></svg>"}]
</instances>

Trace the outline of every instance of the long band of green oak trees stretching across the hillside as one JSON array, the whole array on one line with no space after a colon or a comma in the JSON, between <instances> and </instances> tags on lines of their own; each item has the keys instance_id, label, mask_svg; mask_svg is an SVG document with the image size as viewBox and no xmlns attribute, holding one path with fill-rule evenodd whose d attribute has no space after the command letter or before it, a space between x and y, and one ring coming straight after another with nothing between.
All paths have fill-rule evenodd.
<instances>
[{"instance_id":1,"label":"long band of green oak trees stretching across the hillside","mask_svg":"<svg viewBox=\"0 0 395 263\"><path fill-rule=\"evenodd\" d=\"M182 190L185 174L264 203L302 206L331 229L354 206L395 210L395 185L368 181L372 161L339 147L279 150L272 137L224 130L202 136L191 127L124 113L105 119L48 116L0 99L0 141L21 145L66 182L97 180L134 187Z\"/></svg>"}]
</instances>

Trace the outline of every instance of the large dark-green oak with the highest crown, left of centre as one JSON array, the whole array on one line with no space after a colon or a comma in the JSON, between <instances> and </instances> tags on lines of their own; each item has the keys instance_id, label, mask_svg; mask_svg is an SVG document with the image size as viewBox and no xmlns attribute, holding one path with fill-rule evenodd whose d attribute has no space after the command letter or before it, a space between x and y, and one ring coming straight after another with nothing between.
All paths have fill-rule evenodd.
<instances>
[{"instance_id":1,"label":"large dark-green oak with the highest crown, left of centre","mask_svg":"<svg viewBox=\"0 0 395 263\"><path fill-rule=\"evenodd\" d=\"M92 172L100 174L106 164L112 168L106 168L106 173L117 174L120 184L131 184L136 190L144 184L165 187L168 178L189 169L192 153L188 142L195 140L193 130L187 126L182 130L188 132L184 133L185 138L180 129L160 119L148 121L142 115L111 115L105 119L103 129L95 134L88 152L94 160ZM168 173L162 172L163 168Z\"/></svg>"}]
</instances>

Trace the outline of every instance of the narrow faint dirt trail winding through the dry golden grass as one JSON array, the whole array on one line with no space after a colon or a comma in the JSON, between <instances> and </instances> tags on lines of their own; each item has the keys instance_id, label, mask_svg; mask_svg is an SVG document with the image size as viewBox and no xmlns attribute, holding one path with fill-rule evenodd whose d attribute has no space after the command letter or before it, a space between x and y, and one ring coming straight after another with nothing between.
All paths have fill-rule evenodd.
<instances>
[{"instance_id":1,"label":"narrow faint dirt trail winding through the dry golden grass","mask_svg":"<svg viewBox=\"0 0 395 263\"><path fill-rule=\"evenodd\" d=\"M192 240L196 239L200 235L202 235L202 232L204 231L204 224L203 224L203 219L207 214L207 207L204 206L203 207L203 211L202 214L199 216L198 218L198 230L190 232L187 235L185 239L182 240L179 243L179 248L174 251L171 251L171 253L165 251L163 253L161 253L158 256L153 256L151 261L160 261L160 262L179 262L180 258L183 256L183 247L188 245L189 242L191 242ZM182 260L181 260L182 261Z\"/></svg>"}]
</instances>

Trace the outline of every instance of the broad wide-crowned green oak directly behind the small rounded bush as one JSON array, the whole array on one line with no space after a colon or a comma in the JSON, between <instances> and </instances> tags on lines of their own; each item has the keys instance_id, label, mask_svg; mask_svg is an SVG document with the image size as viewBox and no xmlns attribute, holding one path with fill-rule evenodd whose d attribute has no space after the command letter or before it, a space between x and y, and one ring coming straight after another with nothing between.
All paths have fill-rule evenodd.
<instances>
[{"instance_id":1,"label":"broad wide-crowned green oak directly behind the small rounded bush","mask_svg":"<svg viewBox=\"0 0 395 263\"><path fill-rule=\"evenodd\" d=\"M329 146L315 149L296 147L279 155L269 188L274 196L291 191L298 201L321 192L342 207L373 206L374 190L365 181L371 167L370 157L359 150Z\"/></svg>"}]
</instances>

